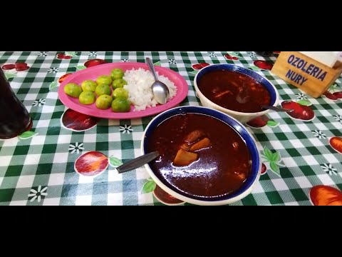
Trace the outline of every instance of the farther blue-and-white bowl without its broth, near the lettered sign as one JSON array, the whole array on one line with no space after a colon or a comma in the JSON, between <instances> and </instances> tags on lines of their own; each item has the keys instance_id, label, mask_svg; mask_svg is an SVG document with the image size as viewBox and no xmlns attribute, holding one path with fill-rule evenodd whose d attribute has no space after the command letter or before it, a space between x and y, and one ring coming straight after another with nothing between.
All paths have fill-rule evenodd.
<instances>
[{"instance_id":1,"label":"farther blue-and-white bowl without its broth, near the lettered sign","mask_svg":"<svg viewBox=\"0 0 342 257\"><path fill-rule=\"evenodd\" d=\"M243 124L248 121L251 121L254 118L257 118L257 116L262 116L269 112L269 109L266 109L265 111L255 112L255 113L244 113L244 112L239 112L239 111L233 111L233 110L225 109L222 106L219 106L215 104L214 102L210 101L209 99L207 99L207 97L204 96L204 94L202 94L202 92L199 90L197 86L199 79L201 79L201 77L204 74L207 74L210 71L222 71L222 70L237 71L239 73L251 76L252 78L257 80L261 85L263 85L267 89L267 91L269 91L269 94L271 96L270 105L271 106L278 105L279 93L276 90L276 87L273 84L271 84L271 82L268 79L266 79L264 76L261 76L260 74L257 74L257 72L252 71L250 69L246 69L244 67L236 66L233 64L212 64L198 71L194 79L195 90L196 90L197 96L199 97L199 100L201 101L202 106L216 109L218 111L223 111L225 114L229 114L230 116L234 117L235 119L242 122Z\"/></svg>"}]
</instances>

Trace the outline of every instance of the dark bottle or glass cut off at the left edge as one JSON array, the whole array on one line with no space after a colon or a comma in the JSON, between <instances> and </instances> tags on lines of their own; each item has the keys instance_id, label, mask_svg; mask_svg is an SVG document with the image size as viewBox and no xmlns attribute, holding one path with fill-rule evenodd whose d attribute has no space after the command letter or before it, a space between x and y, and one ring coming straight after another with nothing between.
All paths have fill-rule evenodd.
<instances>
[{"instance_id":1,"label":"dark bottle or glass cut off at the left edge","mask_svg":"<svg viewBox=\"0 0 342 257\"><path fill-rule=\"evenodd\" d=\"M7 139L23 133L31 124L25 106L16 97L0 68L0 138Z\"/></svg>"}]
</instances>

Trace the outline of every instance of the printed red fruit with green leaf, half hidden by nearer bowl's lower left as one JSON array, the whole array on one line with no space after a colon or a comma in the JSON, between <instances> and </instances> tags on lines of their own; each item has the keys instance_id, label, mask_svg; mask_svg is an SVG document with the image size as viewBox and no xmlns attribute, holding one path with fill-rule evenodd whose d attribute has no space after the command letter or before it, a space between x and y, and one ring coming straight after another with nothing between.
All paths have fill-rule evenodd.
<instances>
[{"instance_id":1,"label":"printed red fruit with green leaf, half hidden by nearer bowl's lower left","mask_svg":"<svg viewBox=\"0 0 342 257\"><path fill-rule=\"evenodd\" d=\"M149 178L142 186L142 193L153 193L153 196L157 198L158 201L164 203L166 205L178 205L184 203L184 201L180 201L179 199L171 196L169 193L166 193L162 188L157 186L157 183Z\"/></svg>"}]
</instances>

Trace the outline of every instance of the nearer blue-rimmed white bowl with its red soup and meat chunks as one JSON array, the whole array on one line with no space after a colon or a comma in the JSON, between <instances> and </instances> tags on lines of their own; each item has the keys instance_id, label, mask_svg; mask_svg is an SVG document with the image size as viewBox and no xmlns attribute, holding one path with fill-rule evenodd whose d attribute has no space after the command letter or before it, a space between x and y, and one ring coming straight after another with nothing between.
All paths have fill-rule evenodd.
<instances>
[{"instance_id":1,"label":"nearer blue-rimmed white bowl with its red soup and meat chunks","mask_svg":"<svg viewBox=\"0 0 342 257\"><path fill-rule=\"evenodd\" d=\"M159 152L145 168L160 188L187 203L234 203L259 181L253 136L236 119L207 107L176 107L155 116L143 133L141 151Z\"/></svg>"}]
</instances>

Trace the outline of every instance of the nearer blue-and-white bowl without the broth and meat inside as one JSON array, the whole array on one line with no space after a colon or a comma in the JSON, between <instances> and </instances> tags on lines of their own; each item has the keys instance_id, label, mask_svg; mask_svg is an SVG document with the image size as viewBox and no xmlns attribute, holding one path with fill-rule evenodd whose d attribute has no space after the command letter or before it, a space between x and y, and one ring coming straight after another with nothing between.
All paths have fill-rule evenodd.
<instances>
[{"instance_id":1,"label":"nearer blue-and-white bowl without the broth and meat inside","mask_svg":"<svg viewBox=\"0 0 342 257\"><path fill-rule=\"evenodd\" d=\"M227 126L232 127L246 142L247 147L249 148L249 152L252 156L252 168L251 173L247 177L247 181L244 182L241 188L238 191L228 195L228 196L218 196L218 197L197 197L197 196L186 196L185 193L172 186L172 184L167 183L159 173L155 173L152 170L150 165L145 164L145 168L147 172L150 174L151 178L157 183L160 188L169 193L171 196L178 198L187 203L193 203L197 205L223 205L234 203L235 201L239 201L242 198L246 197L249 193L251 193L252 188L257 181L259 181L260 171L261 171L261 159L259 155L259 151L256 146L256 142L251 133L239 122L237 119L232 118L231 116L224 114L222 111L217 111L214 109L209 109L207 107L202 106L181 106L175 107L173 109L169 109L167 111L162 112L161 114L155 116L152 121L147 125L141 141L141 153L147 153L147 142L148 138L152 135L155 128L161 124L163 121L169 119L172 116L178 114L204 114L207 116L212 116L216 119L223 121ZM168 133L168 131L165 131Z\"/></svg>"}]
</instances>

